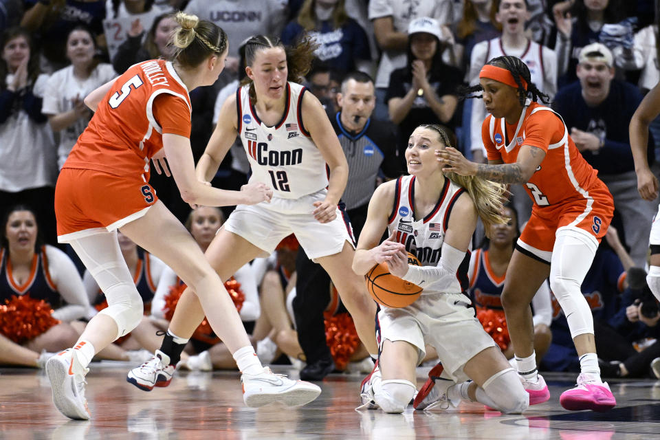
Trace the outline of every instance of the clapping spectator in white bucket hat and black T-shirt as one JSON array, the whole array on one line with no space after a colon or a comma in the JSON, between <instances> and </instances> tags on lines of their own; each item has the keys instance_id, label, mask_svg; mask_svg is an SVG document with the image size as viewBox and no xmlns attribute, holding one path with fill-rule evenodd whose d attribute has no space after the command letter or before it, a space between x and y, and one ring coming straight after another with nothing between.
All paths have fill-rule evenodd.
<instances>
[{"instance_id":1,"label":"clapping spectator in white bucket hat and black T-shirt","mask_svg":"<svg viewBox=\"0 0 660 440\"><path fill-rule=\"evenodd\" d=\"M390 120L399 124L397 147L401 165L408 136L419 124L443 124L454 131L459 69L442 60L443 34L437 20L420 17L408 26L406 67L390 76L385 100ZM406 168L402 168L406 169Z\"/></svg>"}]
</instances>

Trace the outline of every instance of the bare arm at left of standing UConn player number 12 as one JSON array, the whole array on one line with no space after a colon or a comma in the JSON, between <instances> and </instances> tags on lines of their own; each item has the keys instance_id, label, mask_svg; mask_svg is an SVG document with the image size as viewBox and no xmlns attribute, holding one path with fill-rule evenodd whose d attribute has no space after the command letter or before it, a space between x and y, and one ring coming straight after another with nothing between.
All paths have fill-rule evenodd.
<instances>
[{"instance_id":1,"label":"bare arm at left of standing UConn player number 12","mask_svg":"<svg viewBox=\"0 0 660 440\"><path fill-rule=\"evenodd\" d=\"M236 94L230 95L220 109L218 123L206 144L206 150L197 162L195 173L200 181L211 181L222 159L236 139L238 121L236 120Z\"/></svg>"}]
</instances>

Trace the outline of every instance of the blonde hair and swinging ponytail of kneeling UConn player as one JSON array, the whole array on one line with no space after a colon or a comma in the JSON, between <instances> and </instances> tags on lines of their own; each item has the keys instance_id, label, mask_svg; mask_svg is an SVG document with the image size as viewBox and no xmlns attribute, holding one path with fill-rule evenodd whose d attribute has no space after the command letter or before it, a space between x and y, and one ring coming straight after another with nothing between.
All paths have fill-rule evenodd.
<instances>
[{"instance_id":1,"label":"blonde hair and swinging ponytail of kneeling UConn player","mask_svg":"<svg viewBox=\"0 0 660 440\"><path fill-rule=\"evenodd\" d=\"M452 146L449 136L441 126L436 124L421 124L423 129L436 131L445 146ZM461 176L456 173L444 173L447 179L450 179L456 185L460 185L470 199L474 202L474 207L478 213L485 230L489 231L492 225L507 223L509 219L503 215L504 204L507 202L507 186L497 182L483 179L476 176Z\"/></svg>"}]
</instances>

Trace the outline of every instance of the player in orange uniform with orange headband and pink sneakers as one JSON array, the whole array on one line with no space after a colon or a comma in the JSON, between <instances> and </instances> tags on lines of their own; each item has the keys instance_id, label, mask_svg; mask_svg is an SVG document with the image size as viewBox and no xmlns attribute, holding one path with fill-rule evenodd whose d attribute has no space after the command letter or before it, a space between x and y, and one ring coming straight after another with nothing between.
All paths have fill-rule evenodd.
<instances>
[{"instance_id":1,"label":"player in orange uniform with orange headband and pink sneakers","mask_svg":"<svg viewBox=\"0 0 660 440\"><path fill-rule=\"evenodd\" d=\"M470 162L454 148L436 155L447 170L459 175L525 184L533 200L531 218L511 256L502 292L518 373L531 404L549 399L536 368L529 307L549 276L581 367L577 386L564 391L560 403L568 410L608 410L616 400L600 378L593 318L580 285L612 219L612 196L577 151L560 115L536 102L539 96L547 96L531 83L529 69L520 58L493 58L479 77L480 85L468 90L483 90L474 97L483 98L491 113L481 128L489 163Z\"/></svg>"}]
</instances>

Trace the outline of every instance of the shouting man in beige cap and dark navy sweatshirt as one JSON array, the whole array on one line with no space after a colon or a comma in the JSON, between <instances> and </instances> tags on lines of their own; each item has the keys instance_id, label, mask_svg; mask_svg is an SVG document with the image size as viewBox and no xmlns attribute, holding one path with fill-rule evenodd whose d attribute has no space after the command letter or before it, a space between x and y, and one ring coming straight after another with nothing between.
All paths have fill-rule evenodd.
<instances>
[{"instance_id":1,"label":"shouting man in beige cap and dark navy sweatshirt","mask_svg":"<svg viewBox=\"0 0 660 440\"><path fill-rule=\"evenodd\" d=\"M641 93L635 85L614 79L612 52L602 43L580 50L576 74L579 81L558 91L553 109L562 115L575 146L608 186L614 197L613 223L618 214L623 223L618 230L624 231L630 256L635 265L644 267L658 201L639 197L630 150L628 123L641 102ZM654 156L653 148L648 148L649 164Z\"/></svg>"}]
</instances>

